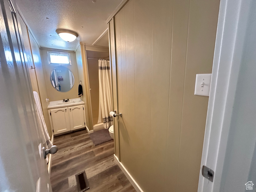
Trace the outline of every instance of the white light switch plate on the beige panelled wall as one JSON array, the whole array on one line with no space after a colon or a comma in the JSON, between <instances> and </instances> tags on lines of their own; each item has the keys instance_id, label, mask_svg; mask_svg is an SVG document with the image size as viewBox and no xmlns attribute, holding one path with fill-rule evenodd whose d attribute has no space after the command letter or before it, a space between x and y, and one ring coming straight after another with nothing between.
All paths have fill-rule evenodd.
<instances>
[{"instance_id":1,"label":"white light switch plate on the beige panelled wall","mask_svg":"<svg viewBox=\"0 0 256 192\"><path fill-rule=\"evenodd\" d=\"M195 95L208 96L210 94L211 74L196 74Z\"/></svg>"}]
</instances>

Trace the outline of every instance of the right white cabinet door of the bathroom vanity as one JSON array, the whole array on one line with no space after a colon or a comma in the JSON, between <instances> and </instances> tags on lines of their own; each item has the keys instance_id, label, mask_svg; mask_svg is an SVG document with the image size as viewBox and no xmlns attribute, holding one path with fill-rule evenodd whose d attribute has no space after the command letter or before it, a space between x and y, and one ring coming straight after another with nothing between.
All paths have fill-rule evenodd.
<instances>
[{"instance_id":1,"label":"right white cabinet door of the bathroom vanity","mask_svg":"<svg viewBox=\"0 0 256 192\"><path fill-rule=\"evenodd\" d=\"M69 107L69 118L71 130L80 129L85 127L83 118L83 105L76 105Z\"/></svg>"}]
</instances>

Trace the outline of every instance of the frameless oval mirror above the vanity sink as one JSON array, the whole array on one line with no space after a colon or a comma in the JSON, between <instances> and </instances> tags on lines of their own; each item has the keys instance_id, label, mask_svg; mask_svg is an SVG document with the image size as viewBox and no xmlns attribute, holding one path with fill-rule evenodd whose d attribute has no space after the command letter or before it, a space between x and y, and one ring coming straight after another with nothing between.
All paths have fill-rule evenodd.
<instances>
[{"instance_id":1,"label":"frameless oval mirror above the vanity sink","mask_svg":"<svg viewBox=\"0 0 256 192\"><path fill-rule=\"evenodd\" d=\"M74 75L67 68L59 66L51 71L50 81L52 86L60 92L67 92L74 86Z\"/></svg>"}]
</instances>

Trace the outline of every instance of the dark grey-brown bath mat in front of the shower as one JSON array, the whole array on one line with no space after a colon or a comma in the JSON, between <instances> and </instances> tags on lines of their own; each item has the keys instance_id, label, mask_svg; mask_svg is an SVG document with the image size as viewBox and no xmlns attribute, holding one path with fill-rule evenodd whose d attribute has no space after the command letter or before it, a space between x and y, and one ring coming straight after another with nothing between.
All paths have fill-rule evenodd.
<instances>
[{"instance_id":1,"label":"dark grey-brown bath mat in front of the shower","mask_svg":"<svg viewBox=\"0 0 256 192\"><path fill-rule=\"evenodd\" d=\"M109 129L102 129L99 131L95 131L89 135L95 146L112 140L109 134Z\"/></svg>"}]
</instances>

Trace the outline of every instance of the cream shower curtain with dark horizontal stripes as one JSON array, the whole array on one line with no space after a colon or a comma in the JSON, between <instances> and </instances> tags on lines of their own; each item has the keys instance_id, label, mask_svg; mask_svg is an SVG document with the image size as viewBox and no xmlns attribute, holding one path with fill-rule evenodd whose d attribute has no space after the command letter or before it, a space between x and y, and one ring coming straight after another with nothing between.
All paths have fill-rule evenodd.
<instances>
[{"instance_id":1,"label":"cream shower curtain with dark horizontal stripes","mask_svg":"<svg viewBox=\"0 0 256 192\"><path fill-rule=\"evenodd\" d=\"M99 59L99 119L98 123L104 124L107 129L113 124L112 111L112 87L110 77L110 63L108 60Z\"/></svg>"}]
</instances>

